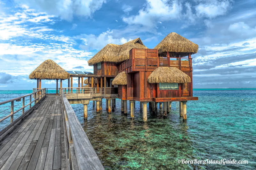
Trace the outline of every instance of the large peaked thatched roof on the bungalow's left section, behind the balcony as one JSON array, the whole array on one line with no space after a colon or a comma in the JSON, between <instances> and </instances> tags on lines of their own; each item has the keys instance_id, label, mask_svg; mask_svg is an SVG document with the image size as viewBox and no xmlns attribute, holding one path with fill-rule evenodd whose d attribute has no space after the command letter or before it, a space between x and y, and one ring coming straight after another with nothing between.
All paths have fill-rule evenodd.
<instances>
[{"instance_id":1,"label":"large peaked thatched roof on the bungalow's left section, behind the balcony","mask_svg":"<svg viewBox=\"0 0 256 170\"><path fill-rule=\"evenodd\" d=\"M122 45L107 44L97 54L95 54L89 61L89 65L99 62L115 62L119 63L129 59L129 52L132 48L147 48L144 46L140 38L126 42Z\"/></svg>"}]
</instances>

